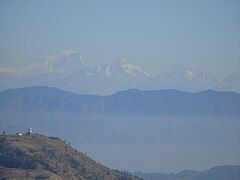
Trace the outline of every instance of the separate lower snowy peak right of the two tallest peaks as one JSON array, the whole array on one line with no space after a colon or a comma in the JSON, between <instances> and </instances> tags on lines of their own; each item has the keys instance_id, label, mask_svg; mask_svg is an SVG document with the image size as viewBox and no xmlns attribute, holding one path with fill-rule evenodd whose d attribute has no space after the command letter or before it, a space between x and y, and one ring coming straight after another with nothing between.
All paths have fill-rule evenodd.
<instances>
[{"instance_id":1,"label":"separate lower snowy peak right of the two tallest peaks","mask_svg":"<svg viewBox=\"0 0 240 180\"><path fill-rule=\"evenodd\" d=\"M206 89L233 90L211 72L194 70L182 64L174 65L170 71L153 78L146 86L148 89L177 89L188 92Z\"/></svg>"}]
</instances>

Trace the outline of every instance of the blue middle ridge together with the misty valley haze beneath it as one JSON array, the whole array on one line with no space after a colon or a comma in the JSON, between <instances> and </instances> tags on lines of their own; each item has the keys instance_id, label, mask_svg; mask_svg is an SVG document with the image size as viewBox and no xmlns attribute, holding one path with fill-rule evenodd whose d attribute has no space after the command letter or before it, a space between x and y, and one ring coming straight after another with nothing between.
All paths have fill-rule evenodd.
<instances>
[{"instance_id":1,"label":"blue middle ridge together with the misty valley haze beneath it","mask_svg":"<svg viewBox=\"0 0 240 180\"><path fill-rule=\"evenodd\" d=\"M234 92L130 89L96 96L42 86L0 92L0 132L32 127L128 171L237 164L239 117Z\"/></svg>"}]
</instances>

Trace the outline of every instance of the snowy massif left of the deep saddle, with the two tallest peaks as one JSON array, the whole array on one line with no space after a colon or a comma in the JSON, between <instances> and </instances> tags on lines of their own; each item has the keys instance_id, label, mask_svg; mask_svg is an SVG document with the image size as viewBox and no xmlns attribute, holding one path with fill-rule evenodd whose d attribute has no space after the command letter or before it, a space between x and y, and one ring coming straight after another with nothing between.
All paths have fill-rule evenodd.
<instances>
[{"instance_id":1,"label":"snowy massif left of the deep saddle, with the two tallest peaks","mask_svg":"<svg viewBox=\"0 0 240 180\"><path fill-rule=\"evenodd\" d=\"M76 93L112 94L136 88L149 79L140 68L121 59L105 65L88 65L78 51L44 56L21 68L1 68L2 89L44 85Z\"/></svg>"}]
</instances>

